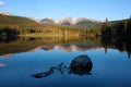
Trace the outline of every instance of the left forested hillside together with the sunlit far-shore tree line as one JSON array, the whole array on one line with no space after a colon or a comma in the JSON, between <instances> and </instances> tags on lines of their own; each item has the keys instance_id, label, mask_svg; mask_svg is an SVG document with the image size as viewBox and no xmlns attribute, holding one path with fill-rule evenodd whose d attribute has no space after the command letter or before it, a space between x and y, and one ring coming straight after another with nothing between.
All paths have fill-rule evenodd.
<instances>
[{"instance_id":1,"label":"left forested hillside together with the sunlit far-shore tree line","mask_svg":"<svg viewBox=\"0 0 131 87\"><path fill-rule=\"evenodd\" d=\"M0 37L13 36L88 36L100 35L98 28L38 24L29 18L0 14Z\"/></svg>"}]
</instances>

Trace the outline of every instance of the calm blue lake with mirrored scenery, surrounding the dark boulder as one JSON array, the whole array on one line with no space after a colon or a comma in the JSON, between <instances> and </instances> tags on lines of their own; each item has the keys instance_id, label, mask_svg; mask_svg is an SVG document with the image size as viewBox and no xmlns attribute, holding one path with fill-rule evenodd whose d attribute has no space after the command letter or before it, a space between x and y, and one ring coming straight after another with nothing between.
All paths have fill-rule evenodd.
<instances>
[{"instance_id":1,"label":"calm blue lake with mirrored scenery, surrounding the dark boulder","mask_svg":"<svg viewBox=\"0 0 131 87\"><path fill-rule=\"evenodd\" d=\"M122 45L87 37L1 39L0 87L131 87L131 46ZM91 71L70 72L81 55Z\"/></svg>"}]
</instances>

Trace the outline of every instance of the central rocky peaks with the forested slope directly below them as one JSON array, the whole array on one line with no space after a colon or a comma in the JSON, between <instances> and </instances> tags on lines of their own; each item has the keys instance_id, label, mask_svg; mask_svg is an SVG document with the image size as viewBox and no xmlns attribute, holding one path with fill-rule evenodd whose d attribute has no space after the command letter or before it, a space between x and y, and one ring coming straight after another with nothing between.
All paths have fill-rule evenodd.
<instances>
[{"instance_id":1,"label":"central rocky peaks with the forested slope directly below them","mask_svg":"<svg viewBox=\"0 0 131 87\"><path fill-rule=\"evenodd\" d=\"M100 28L104 21L92 20L86 17L80 18L72 18L66 17L62 20L53 20L51 17L47 17L40 21L41 24L53 24L53 25L61 25L61 26L75 26L82 28Z\"/></svg>"}]
</instances>

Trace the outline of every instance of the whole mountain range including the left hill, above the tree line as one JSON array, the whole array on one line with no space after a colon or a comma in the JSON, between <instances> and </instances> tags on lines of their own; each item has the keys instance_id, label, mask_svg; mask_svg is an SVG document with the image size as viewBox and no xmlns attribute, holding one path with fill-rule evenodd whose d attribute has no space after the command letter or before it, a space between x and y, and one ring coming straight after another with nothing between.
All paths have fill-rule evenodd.
<instances>
[{"instance_id":1,"label":"whole mountain range including the left hill, above the tree line","mask_svg":"<svg viewBox=\"0 0 131 87\"><path fill-rule=\"evenodd\" d=\"M123 20L121 20L123 21ZM116 24L121 21L111 21L111 24ZM51 25L62 25L62 26L76 26L81 28L100 28L105 21L100 20L93 20L86 17L66 17L62 20L53 20L52 17L46 17L43 20L38 20L35 17L27 17L27 16L19 16L13 15L10 12L1 12L0 13L0 24L3 25L37 25L37 24L51 24Z\"/></svg>"}]
</instances>

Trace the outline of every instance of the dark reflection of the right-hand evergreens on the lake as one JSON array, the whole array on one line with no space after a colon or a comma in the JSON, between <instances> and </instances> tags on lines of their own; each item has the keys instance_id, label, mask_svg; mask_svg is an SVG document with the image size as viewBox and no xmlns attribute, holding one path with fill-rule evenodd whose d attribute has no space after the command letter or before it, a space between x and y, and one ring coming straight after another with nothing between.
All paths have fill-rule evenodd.
<instances>
[{"instance_id":1,"label":"dark reflection of the right-hand evergreens on the lake","mask_svg":"<svg viewBox=\"0 0 131 87\"><path fill-rule=\"evenodd\" d=\"M131 39L129 38L121 38L116 37L112 39L107 39L105 37L102 37L102 46L105 48L105 53L107 53L107 49L117 49L120 52L127 51L128 57L131 57Z\"/></svg>"}]
</instances>

